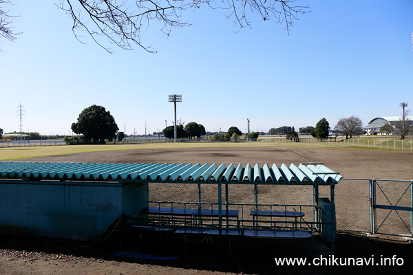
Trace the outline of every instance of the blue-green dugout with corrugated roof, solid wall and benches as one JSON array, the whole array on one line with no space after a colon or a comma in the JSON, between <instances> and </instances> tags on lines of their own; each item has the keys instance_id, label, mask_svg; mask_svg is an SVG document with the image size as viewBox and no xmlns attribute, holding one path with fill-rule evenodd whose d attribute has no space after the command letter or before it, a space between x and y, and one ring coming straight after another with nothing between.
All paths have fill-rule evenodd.
<instances>
[{"instance_id":1,"label":"blue-green dugout with corrugated roof, solid wall and benches","mask_svg":"<svg viewBox=\"0 0 413 275\"><path fill-rule=\"evenodd\" d=\"M324 164L0 162L0 229L83 241L116 230L273 239L317 232L334 245L340 179Z\"/></svg>"}]
</instances>

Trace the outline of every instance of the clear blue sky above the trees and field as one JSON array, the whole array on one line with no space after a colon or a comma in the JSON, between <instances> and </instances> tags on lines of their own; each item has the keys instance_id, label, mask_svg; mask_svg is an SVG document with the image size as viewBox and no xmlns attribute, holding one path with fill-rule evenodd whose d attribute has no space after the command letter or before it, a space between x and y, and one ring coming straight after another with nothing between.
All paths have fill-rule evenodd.
<instances>
[{"instance_id":1,"label":"clear blue sky above the trees and field","mask_svg":"<svg viewBox=\"0 0 413 275\"><path fill-rule=\"evenodd\" d=\"M182 94L178 119L207 131L315 126L357 115L363 124L413 106L413 1L298 1L310 6L290 34L275 20L250 17L240 32L222 10L184 15L192 25L170 37L153 30L140 48L108 54L85 37L54 1L15 0L16 43L0 41L0 128L70 135L92 104L131 134L162 131L173 121L169 94Z\"/></svg>"}]
</instances>

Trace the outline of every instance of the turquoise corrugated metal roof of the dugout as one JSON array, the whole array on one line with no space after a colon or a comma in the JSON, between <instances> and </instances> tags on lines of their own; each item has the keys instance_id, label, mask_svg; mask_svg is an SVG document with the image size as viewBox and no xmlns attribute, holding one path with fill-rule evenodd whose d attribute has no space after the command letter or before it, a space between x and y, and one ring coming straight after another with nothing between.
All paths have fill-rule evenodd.
<instances>
[{"instance_id":1,"label":"turquoise corrugated metal roof of the dugout","mask_svg":"<svg viewBox=\"0 0 413 275\"><path fill-rule=\"evenodd\" d=\"M132 181L229 184L332 185L339 173L323 164L116 164L78 162L0 162L0 179Z\"/></svg>"}]
</instances>

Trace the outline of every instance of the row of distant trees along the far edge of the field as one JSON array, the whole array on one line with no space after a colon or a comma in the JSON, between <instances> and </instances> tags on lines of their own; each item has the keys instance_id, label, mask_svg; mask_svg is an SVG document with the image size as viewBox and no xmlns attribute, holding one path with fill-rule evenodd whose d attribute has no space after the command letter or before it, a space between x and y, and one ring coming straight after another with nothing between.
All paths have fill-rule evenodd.
<instances>
[{"instance_id":1,"label":"row of distant trees along the far edge of the field","mask_svg":"<svg viewBox=\"0 0 413 275\"><path fill-rule=\"evenodd\" d=\"M408 112L407 112L408 113ZM352 138L353 135L361 134L361 127L363 122L360 118L352 115L348 118L340 118L335 125L333 131L336 134L346 135L347 138ZM115 122L114 117L109 111L106 111L105 107L92 105L81 111L78 115L77 122L72 123L71 129L78 135L83 137L65 137L65 141L71 144L77 143L105 143L105 140L112 141L118 139L123 140L125 133L118 132L118 125ZM412 131L413 125L403 115L403 120L394 126L385 125L381 131L388 131L388 133L396 133L401 135L401 139ZM206 134L205 127L197 122L189 122L186 126L177 125L177 137L178 138L200 138ZM324 139L330 134L330 125L326 118L321 118L319 122L313 126L306 126L299 128L300 133L310 133L313 137ZM173 138L174 129L173 126L168 126L162 130L165 137ZM299 142L298 133L295 131L294 126L281 126L279 128L271 128L268 131L271 135L286 134L287 140L292 142ZM0 138L3 134L3 130L0 129ZM213 140L237 140L243 133L236 126L231 126L226 133L215 133ZM248 140L256 140L260 135L258 132L246 133L244 138Z\"/></svg>"}]
</instances>

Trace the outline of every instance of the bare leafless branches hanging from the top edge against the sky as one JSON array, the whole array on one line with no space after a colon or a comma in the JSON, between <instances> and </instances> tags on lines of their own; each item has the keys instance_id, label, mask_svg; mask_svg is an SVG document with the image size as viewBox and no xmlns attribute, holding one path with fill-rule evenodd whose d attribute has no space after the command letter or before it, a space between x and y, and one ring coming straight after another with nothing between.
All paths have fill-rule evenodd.
<instances>
[{"instance_id":1,"label":"bare leafless branches hanging from the top edge against the sky","mask_svg":"<svg viewBox=\"0 0 413 275\"><path fill-rule=\"evenodd\" d=\"M18 32L12 31L12 19L3 4L11 0L0 0L0 35L13 41ZM206 6L227 11L227 17L239 30L251 28L247 18L255 14L264 21L274 18L284 24L289 33L299 14L305 14L308 6L295 6L296 0L59 0L57 7L64 10L73 20L72 32L78 41L85 43L84 35L107 52L112 52L110 44L124 50L132 50L136 45L147 52L155 52L151 45L142 41L142 33L149 26L157 28L169 36L174 28L189 25L182 20L186 10ZM239 31L238 30L238 31ZM108 46L109 43L109 46Z\"/></svg>"}]
</instances>

